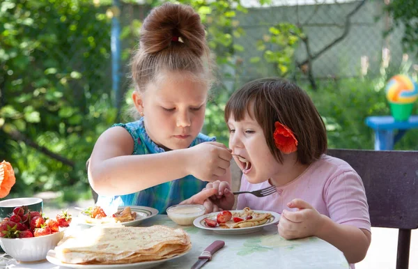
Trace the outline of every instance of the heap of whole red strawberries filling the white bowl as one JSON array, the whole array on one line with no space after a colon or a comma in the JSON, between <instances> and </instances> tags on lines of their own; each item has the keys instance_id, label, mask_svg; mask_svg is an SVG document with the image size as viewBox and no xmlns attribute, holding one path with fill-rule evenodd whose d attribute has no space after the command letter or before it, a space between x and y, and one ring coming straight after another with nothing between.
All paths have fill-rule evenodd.
<instances>
[{"instance_id":1,"label":"heap of whole red strawberries filling the white bowl","mask_svg":"<svg viewBox=\"0 0 418 269\"><path fill-rule=\"evenodd\" d=\"M66 213L67 224L71 222L71 215ZM66 225L68 226L68 225ZM59 232L60 227L66 227L57 220L43 217L41 212L29 211L26 206L17 206L10 217L0 222L0 237L30 238L47 236Z\"/></svg>"}]
</instances>

